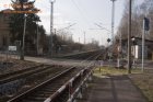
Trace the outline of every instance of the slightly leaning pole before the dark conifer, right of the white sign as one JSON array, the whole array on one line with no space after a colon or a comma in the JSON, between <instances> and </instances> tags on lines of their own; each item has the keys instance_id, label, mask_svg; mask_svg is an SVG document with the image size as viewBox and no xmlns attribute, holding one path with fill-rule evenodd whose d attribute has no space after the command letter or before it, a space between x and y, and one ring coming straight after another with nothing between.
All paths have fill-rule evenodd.
<instances>
[{"instance_id":1,"label":"slightly leaning pole before the dark conifer, right of the white sign","mask_svg":"<svg viewBox=\"0 0 153 102\"><path fill-rule=\"evenodd\" d=\"M22 39L22 53L21 53L21 60L24 60L24 46L25 46L25 30L26 30L26 14L24 14L24 30L23 30L23 39Z\"/></svg>"}]
</instances>

